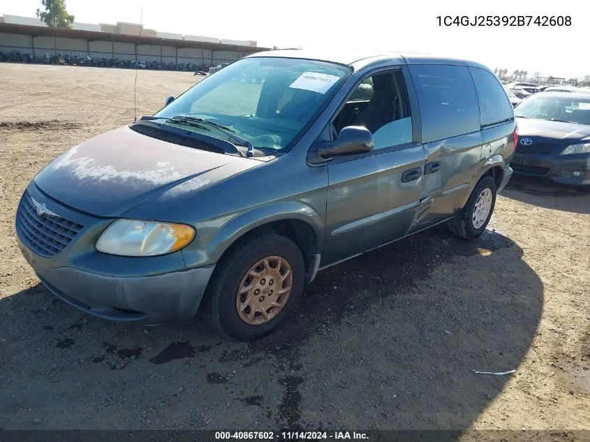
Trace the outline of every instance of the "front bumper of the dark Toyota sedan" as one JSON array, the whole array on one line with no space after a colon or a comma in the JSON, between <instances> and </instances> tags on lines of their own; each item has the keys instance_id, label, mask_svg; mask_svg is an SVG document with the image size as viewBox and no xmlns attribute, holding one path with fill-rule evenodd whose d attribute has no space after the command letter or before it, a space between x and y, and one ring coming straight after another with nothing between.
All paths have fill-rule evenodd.
<instances>
[{"instance_id":1,"label":"front bumper of the dark Toyota sedan","mask_svg":"<svg viewBox=\"0 0 590 442\"><path fill-rule=\"evenodd\" d=\"M549 178L561 184L590 184L590 155L538 155L515 152L510 166L516 174ZM579 177L574 176L579 172Z\"/></svg>"}]
</instances>

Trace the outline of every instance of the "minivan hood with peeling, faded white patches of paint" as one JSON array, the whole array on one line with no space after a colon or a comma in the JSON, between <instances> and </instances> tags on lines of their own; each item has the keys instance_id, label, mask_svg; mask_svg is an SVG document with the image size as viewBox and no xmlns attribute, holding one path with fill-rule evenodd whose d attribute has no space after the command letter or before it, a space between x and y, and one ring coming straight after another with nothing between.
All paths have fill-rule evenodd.
<instances>
[{"instance_id":1,"label":"minivan hood with peeling, faded white patches of paint","mask_svg":"<svg viewBox=\"0 0 590 442\"><path fill-rule=\"evenodd\" d=\"M47 195L75 209L121 216L163 192L196 193L260 164L156 140L124 126L61 154L34 181Z\"/></svg>"}]
</instances>

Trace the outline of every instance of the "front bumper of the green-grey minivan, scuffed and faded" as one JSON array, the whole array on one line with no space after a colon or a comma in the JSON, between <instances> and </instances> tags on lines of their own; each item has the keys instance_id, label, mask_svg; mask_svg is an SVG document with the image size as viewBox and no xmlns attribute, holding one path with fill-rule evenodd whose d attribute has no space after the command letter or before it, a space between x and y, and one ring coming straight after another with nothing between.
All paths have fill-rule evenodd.
<instances>
[{"instance_id":1,"label":"front bumper of the green-grey minivan, scuffed and faded","mask_svg":"<svg viewBox=\"0 0 590 442\"><path fill-rule=\"evenodd\" d=\"M45 220L33 219L32 215L28 227L24 228L23 202L17 211L20 250L54 295L82 311L112 321L157 324L188 320L196 315L214 265L186 269L180 251L147 258L100 253L94 244L112 220L98 219L61 205L34 184L29 185L23 201L30 197L44 202L61 220L75 221L80 226L74 239L54 256L41 256L43 252L38 252L43 247L37 247L36 251L34 248L39 235L46 235L39 231L54 236L55 233L48 233L42 226ZM24 241L23 235L27 237Z\"/></svg>"}]
</instances>

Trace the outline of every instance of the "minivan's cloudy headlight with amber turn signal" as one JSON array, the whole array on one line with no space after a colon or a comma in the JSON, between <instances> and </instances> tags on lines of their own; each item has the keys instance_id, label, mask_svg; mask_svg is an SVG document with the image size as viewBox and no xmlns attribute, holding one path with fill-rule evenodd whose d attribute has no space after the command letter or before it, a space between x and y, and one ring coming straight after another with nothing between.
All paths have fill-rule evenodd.
<instances>
[{"instance_id":1,"label":"minivan's cloudy headlight with amber turn signal","mask_svg":"<svg viewBox=\"0 0 590 442\"><path fill-rule=\"evenodd\" d=\"M101 234L96 250L111 255L154 256L182 249L195 237L186 224L117 219Z\"/></svg>"}]
</instances>

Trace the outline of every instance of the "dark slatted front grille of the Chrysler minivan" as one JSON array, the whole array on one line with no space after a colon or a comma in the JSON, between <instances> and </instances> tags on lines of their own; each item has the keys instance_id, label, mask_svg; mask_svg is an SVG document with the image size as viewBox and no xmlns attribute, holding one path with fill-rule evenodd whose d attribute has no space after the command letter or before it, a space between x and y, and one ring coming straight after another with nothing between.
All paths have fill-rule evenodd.
<instances>
[{"instance_id":1,"label":"dark slatted front grille of the Chrysler minivan","mask_svg":"<svg viewBox=\"0 0 590 442\"><path fill-rule=\"evenodd\" d=\"M38 215L27 193L20 200L16 215L16 230L20 240L32 251L52 258L74 239L81 224L56 216Z\"/></svg>"}]
</instances>

